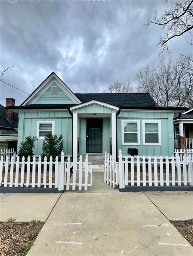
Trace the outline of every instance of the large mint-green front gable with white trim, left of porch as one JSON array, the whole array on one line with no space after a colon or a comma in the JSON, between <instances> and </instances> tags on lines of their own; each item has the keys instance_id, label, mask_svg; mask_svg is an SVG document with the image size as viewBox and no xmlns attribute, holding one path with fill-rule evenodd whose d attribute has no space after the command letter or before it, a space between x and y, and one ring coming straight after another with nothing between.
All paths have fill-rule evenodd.
<instances>
[{"instance_id":1,"label":"large mint-green front gable with white trim, left of porch","mask_svg":"<svg viewBox=\"0 0 193 256\"><path fill-rule=\"evenodd\" d=\"M51 86L57 86L57 94L51 94ZM78 104L79 98L52 72L36 90L21 104Z\"/></svg>"}]
</instances>

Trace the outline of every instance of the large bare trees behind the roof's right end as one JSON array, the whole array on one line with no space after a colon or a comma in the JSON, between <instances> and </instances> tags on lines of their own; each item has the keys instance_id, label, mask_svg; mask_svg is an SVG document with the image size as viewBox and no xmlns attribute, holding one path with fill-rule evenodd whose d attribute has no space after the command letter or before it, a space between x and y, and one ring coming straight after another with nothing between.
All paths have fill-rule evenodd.
<instances>
[{"instance_id":1,"label":"large bare trees behind the roof's right end","mask_svg":"<svg viewBox=\"0 0 193 256\"><path fill-rule=\"evenodd\" d=\"M161 59L156 67L140 69L138 91L149 93L158 106L193 106L193 63L188 56Z\"/></svg>"}]
</instances>

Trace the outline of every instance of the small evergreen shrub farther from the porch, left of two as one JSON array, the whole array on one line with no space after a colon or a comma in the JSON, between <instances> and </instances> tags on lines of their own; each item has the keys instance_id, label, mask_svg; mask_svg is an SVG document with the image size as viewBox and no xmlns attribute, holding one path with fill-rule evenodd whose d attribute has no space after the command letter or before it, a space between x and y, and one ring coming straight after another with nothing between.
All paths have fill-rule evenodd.
<instances>
[{"instance_id":1,"label":"small evergreen shrub farther from the porch, left of two","mask_svg":"<svg viewBox=\"0 0 193 256\"><path fill-rule=\"evenodd\" d=\"M22 158L24 156L26 161L28 159L28 156L30 156L30 159L32 161L36 140L37 140L36 136L25 137L25 141L24 142L22 141L22 143L20 145L18 156L20 158Z\"/></svg>"}]
</instances>

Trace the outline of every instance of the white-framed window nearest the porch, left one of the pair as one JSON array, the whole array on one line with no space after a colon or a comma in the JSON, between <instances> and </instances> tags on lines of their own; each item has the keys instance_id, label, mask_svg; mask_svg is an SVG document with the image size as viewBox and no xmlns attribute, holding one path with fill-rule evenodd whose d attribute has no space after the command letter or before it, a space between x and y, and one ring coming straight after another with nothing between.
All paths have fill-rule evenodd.
<instances>
[{"instance_id":1,"label":"white-framed window nearest the porch, left one of the pair","mask_svg":"<svg viewBox=\"0 0 193 256\"><path fill-rule=\"evenodd\" d=\"M140 120L122 120L122 145L140 145Z\"/></svg>"}]
</instances>

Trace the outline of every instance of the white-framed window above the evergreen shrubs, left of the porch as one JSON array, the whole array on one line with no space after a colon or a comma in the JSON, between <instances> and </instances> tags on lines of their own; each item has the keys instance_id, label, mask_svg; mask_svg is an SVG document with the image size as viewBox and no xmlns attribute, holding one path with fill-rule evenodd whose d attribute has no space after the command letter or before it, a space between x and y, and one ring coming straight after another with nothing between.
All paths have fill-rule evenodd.
<instances>
[{"instance_id":1,"label":"white-framed window above the evergreen shrubs, left of the porch","mask_svg":"<svg viewBox=\"0 0 193 256\"><path fill-rule=\"evenodd\" d=\"M37 138L44 139L45 134L54 134L54 121L38 121L37 122Z\"/></svg>"}]
</instances>

